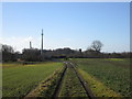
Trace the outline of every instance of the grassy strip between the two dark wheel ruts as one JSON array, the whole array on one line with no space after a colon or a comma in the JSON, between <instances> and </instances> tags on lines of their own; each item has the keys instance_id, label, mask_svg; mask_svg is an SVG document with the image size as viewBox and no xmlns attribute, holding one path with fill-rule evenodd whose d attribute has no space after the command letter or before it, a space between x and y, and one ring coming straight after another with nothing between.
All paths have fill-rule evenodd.
<instances>
[{"instance_id":1,"label":"grassy strip between the two dark wheel ruts","mask_svg":"<svg viewBox=\"0 0 132 99\"><path fill-rule=\"evenodd\" d=\"M88 97L70 63L67 63L66 75L58 97Z\"/></svg>"}]
</instances>

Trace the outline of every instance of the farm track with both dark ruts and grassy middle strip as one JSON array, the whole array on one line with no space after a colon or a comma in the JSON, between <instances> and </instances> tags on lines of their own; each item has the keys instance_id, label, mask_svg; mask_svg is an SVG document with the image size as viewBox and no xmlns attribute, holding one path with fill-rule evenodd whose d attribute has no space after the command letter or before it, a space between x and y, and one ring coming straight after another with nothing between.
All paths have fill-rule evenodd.
<instances>
[{"instance_id":1,"label":"farm track with both dark ruts and grassy middle strip","mask_svg":"<svg viewBox=\"0 0 132 99\"><path fill-rule=\"evenodd\" d=\"M92 99L94 94L88 88L88 85L85 82L82 77L78 74L76 66L70 62L64 62L64 64L65 70L58 80L53 98L88 97L89 99Z\"/></svg>"}]
</instances>

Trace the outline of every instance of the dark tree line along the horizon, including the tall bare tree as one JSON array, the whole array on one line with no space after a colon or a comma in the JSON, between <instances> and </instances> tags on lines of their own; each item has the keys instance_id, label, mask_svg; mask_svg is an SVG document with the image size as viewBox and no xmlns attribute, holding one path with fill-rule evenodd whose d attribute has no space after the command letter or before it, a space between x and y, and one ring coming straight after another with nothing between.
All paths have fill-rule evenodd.
<instances>
[{"instance_id":1,"label":"dark tree line along the horizon, including the tall bare tree","mask_svg":"<svg viewBox=\"0 0 132 99\"><path fill-rule=\"evenodd\" d=\"M103 44L100 41L94 41L91 45L86 50L70 50L69 47L57 48L57 50L41 50L38 48L24 48L22 53L14 52L13 47L10 45L3 45L1 47L2 62L42 62L56 58L130 58L132 53L102 53Z\"/></svg>"}]
</instances>

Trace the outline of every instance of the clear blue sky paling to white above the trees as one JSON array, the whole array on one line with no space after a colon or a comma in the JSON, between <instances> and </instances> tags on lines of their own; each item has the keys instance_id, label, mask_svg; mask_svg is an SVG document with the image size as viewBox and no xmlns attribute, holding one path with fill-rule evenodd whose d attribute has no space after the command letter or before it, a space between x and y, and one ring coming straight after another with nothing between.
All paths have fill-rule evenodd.
<instances>
[{"instance_id":1,"label":"clear blue sky paling to white above the trees","mask_svg":"<svg viewBox=\"0 0 132 99\"><path fill-rule=\"evenodd\" d=\"M15 51L70 47L86 51L94 41L102 52L130 51L129 2L3 2L2 44Z\"/></svg>"}]
</instances>

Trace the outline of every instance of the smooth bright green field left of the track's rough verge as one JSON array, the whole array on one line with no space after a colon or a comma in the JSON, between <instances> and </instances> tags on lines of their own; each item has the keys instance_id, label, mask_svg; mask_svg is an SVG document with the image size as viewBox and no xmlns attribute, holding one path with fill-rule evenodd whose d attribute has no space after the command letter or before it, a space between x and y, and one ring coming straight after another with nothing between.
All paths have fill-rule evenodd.
<instances>
[{"instance_id":1,"label":"smooth bright green field left of the track's rough verge","mask_svg":"<svg viewBox=\"0 0 132 99\"><path fill-rule=\"evenodd\" d=\"M62 63L41 63L34 65L3 64L3 97L24 97L42 80L46 79Z\"/></svg>"}]
</instances>

